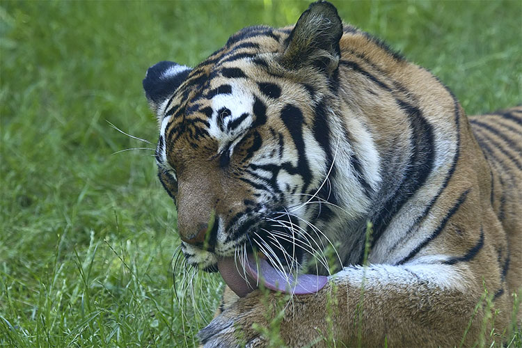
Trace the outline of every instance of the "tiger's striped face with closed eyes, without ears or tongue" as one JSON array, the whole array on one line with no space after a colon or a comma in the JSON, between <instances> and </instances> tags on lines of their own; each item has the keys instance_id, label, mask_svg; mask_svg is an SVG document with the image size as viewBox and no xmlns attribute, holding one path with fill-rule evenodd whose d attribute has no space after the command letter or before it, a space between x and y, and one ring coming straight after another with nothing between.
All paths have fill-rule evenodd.
<instances>
[{"instance_id":1,"label":"tiger's striped face with closed eyes, without ears or tongue","mask_svg":"<svg viewBox=\"0 0 522 348\"><path fill-rule=\"evenodd\" d=\"M208 72L213 79L183 84L166 106L157 148L183 252L203 269L253 246L283 258L308 230L302 221L317 214L306 202L328 171L320 130L306 122L319 88L282 81L246 59Z\"/></svg>"}]
</instances>

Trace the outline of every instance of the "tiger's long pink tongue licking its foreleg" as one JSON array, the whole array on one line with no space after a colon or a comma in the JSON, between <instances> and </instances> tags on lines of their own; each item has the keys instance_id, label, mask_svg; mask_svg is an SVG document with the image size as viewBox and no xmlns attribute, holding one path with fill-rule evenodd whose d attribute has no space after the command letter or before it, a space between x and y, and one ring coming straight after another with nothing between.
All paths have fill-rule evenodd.
<instances>
[{"instance_id":1,"label":"tiger's long pink tongue licking its foreleg","mask_svg":"<svg viewBox=\"0 0 522 348\"><path fill-rule=\"evenodd\" d=\"M315 294L328 282L328 277L315 274L301 274L297 278L292 274L282 274L263 258L258 258L256 264L252 253L248 254L248 262L244 270L239 260L235 258L220 260L218 269L225 283L239 297L244 297L257 289L259 283L270 290L302 295Z\"/></svg>"}]
</instances>

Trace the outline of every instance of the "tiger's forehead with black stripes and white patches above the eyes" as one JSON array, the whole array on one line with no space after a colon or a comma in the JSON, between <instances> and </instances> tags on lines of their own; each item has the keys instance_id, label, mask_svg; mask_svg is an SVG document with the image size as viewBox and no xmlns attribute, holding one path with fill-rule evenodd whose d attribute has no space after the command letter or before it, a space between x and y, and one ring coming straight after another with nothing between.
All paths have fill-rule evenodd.
<instances>
[{"instance_id":1,"label":"tiger's forehead with black stripes and white patches above the eyes","mask_svg":"<svg viewBox=\"0 0 522 348\"><path fill-rule=\"evenodd\" d=\"M160 134L171 143L184 132L191 134L193 148L203 138L221 148L247 129L264 125L267 108L282 93L280 81L250 58L213 70L197 68L169 101Z\"/></svg>"}]
</instances>

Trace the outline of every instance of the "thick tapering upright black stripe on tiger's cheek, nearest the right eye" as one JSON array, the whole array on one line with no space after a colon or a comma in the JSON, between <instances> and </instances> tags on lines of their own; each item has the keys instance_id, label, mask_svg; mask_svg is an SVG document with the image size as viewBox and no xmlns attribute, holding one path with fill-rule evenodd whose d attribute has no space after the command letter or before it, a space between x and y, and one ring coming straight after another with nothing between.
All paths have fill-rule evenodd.
<instances>
[{"instance_id":1,"label":"thick tapering upright black stripe on tiger's cheek, nearest the right eye","mask_svg":"<svg viewBox=\"0 0 522 348\"><path fill-rule=\"evenodd\" d=\"M306 160L305 143L303 139L303 113L301 113L301 110L296 106L286 104L283 107L283 110L281 110L280 117L287 127L290 136L292 136L292 140L296 146L298 155L297 170L299 171L299 175L303 177L303 192L306 192L310 180L312 179L312 173L310 172L310 167Z\"/></svg>"}]
</instances>

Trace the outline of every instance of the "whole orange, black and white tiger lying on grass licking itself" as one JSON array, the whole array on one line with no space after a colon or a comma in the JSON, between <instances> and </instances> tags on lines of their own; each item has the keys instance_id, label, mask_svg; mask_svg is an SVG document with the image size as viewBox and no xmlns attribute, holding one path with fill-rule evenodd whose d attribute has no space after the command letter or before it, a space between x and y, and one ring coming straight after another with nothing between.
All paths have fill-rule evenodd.
<instances>
[{"instance_id":1,"label":"whole orange, black and white tiger lying on grass licking itself","mask_svg":"<svg viewBox=\"0 0 522 348\"><path fill-rule=\"evenodd\" d=\"M204 347L266 347L281 296L288 347L467 347L520 328L521 106L466 116L326 1L196 68L161 61L143 88L182 253L227 284Z\"/></svg>"}]
</instances>

